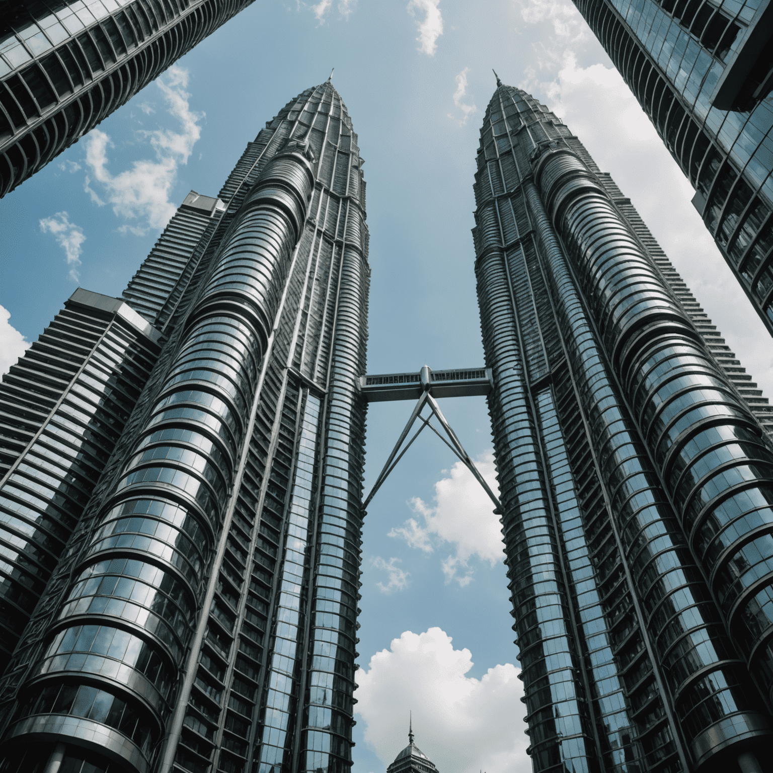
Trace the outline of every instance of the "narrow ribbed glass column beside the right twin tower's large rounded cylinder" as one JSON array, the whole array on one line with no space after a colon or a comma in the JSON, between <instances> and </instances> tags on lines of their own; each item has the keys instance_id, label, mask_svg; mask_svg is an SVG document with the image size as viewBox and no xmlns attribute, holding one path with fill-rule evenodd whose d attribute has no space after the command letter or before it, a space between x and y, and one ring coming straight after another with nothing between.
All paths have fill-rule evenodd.
<instances>
[{"instance_id":1,"label":"narrow ribbed glass column beside the right twin tower's large rounded cylinder","mask_svg":"<svg viewBox=\"0 0 773 773\"><path fill-rule=\"evenodd\" d=\"M526 195L533 211L542 209L537 225L542 233L549 233L550 223L531 182L526 183ZM724 722L722 714L707 717L701 710L708 696L714 695L713 703L724 707L739 736L744 732L767 734L769 723L757 710L751 680L727 638L715 604L701 589L700 572L608 373L564 261L557 250L550 257L557 315L599 472L608 485L615 536L639 599L637 617L659 666L659 682L666 684L673 700L670 730L678 737L673 727L675 714L693 749L693 759L700 764L710 752L718 751L712 743L717 735L714 726ZM723 741L732 740L731 733L724 735Z\"/></svg>"}]
</instances>

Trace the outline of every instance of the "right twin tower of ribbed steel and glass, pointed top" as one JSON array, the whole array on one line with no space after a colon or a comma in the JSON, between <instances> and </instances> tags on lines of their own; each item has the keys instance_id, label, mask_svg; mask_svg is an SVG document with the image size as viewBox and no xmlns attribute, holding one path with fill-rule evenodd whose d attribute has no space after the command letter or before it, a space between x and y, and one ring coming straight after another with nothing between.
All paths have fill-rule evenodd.
<instances>
[{"instance_id":1,"label":"right twin tower of ribbed steel and glass, pointed top","mask_svg":"<svg viewBox=\"0 0 773 773\"><path fill-rule=\"evenodd\" d=\"M767 400L610 176L499 80L475 202L534 770L760 771Z\"/></svg>"}]
</instances>

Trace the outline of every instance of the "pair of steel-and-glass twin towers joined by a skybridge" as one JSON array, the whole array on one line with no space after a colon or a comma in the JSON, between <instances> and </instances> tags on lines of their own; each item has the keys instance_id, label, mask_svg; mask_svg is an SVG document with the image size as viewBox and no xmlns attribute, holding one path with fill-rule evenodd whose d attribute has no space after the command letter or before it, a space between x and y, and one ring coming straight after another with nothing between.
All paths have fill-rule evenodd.
<instances>
[{"instance_id":1,"label":"pair of steel-and-glass twin towers joined by a skybridge","mask_svg":"<svg viewBox=\"0 0 773 773\"><path fill-rule=\"evenodd\" d=\"M365 375L363 161L328 81L4 377L0 773L349 773L392 389L488 393L535 773L769 764L767 400L546 107L498 82L477 159L479 370Z\"/></svg>"}]
</instances>

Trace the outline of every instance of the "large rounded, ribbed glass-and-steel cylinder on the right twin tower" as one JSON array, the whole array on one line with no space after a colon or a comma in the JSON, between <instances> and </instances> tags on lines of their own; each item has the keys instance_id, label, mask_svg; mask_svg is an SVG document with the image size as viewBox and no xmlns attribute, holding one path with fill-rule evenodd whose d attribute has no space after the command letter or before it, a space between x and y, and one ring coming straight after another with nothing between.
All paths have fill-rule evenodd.
<instances>
[{"instance_id":1,"label":"large rounded, ribbed glass-and-steel cylinder on the right twin tower","mask_svg":"<svg viewBox=\"0 0 773 773\"><path fill-rule=\"evenodd\" d=\"M551 201L590 174L564 154L547 155L540 164L540 185ZM559 165L566 182L553 172L557 182L547 191L545 172ZM727 628L769 701L769 441L607 196L588 187L569 196L563 206L554 205L553 214L591 313Z\"/></svg>"}]
</instances>

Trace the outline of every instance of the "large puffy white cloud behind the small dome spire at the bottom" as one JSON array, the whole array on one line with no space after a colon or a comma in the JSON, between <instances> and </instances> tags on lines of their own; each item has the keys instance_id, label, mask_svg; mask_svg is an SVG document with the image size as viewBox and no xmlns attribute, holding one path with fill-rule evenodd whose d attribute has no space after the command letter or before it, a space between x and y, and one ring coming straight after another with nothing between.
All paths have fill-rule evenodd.
<instances>
[{"instance_id":1,"label":"large puffy white cloud behind the small dome spire at the bottom","mask_svg":"<svg viewBox=\"0 0 773 773\"><path fill-rule=\"evenodd\" d=\"M441 628L406 631L357 672L366 744L389 764L407 745L412 710L415 742L441 771L531 773L519 669L506 663L473 679L472 653L451 642Z\"/></svg>"}]
</instances>

